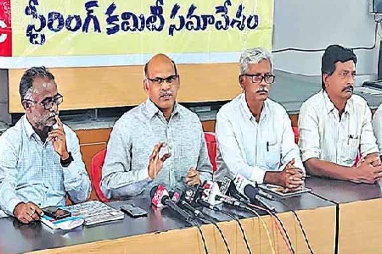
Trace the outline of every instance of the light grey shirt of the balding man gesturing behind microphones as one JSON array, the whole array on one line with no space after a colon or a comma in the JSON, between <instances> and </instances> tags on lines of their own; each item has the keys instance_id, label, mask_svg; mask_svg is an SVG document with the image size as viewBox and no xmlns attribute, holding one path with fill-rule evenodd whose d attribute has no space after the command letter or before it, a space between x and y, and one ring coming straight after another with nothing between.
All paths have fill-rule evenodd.
<instances>
[{"instance_id":1,"label":"light grey shirt of the balding man gesturing behind microphones","mask_svg":"<svg viewBox=\"0 0 382 254\"><path fill-rule=\"evenodd\" d=\"M171 157L152 181L148 175L149 157L159 142L168 144L161 149L160 157L165 152L170 152ZM167 122L147 99L115 123L107 143L100 187L107 198L148 195L158 184L168 190L182 190L190 167L200 172L201 181L211 180L212 167L199 118L176 103Z\"/></svg>"}]
</instances>

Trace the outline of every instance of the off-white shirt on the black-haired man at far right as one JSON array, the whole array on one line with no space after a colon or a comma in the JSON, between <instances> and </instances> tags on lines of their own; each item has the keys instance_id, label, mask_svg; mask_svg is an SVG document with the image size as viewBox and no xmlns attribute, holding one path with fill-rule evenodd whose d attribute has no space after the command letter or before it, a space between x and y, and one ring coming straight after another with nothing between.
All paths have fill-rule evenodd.
<instances>
[{"instance_id":1,"label":"off-white shirt on the black-haired man at far right","mask_svg":"<svg viewBox=\"0 0 382 254\"><path fill-rule=\"evenodd\" d=\"M298 130L302 161L318 158L351 167L359 149L363 157L379 152L370 108L355 94L341 119L325 91L313 95L300 108Z\"/></svg>"}]
</instances>

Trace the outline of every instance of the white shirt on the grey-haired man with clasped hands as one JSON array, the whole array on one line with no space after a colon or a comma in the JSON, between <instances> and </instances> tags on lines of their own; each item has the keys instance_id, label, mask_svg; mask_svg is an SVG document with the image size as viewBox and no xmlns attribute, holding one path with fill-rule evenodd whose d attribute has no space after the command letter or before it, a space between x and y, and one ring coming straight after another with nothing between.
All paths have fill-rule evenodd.
<instances>
[{"instance_id":1,"label":"white shirt on the grey-haired man with clasped hands","mask_svg":"<svg viewBox=\"0 0 382 254\"><path fill-rule=\"evenodd\" d=\"M283 170L293 158L294 166L304 169L286 110L271 99L264 102L257 123L245 94L240 94L219 110L215 128L217 171L214 180L240 174L260 184L266 171Z\"/></svg>"}]
</instances>

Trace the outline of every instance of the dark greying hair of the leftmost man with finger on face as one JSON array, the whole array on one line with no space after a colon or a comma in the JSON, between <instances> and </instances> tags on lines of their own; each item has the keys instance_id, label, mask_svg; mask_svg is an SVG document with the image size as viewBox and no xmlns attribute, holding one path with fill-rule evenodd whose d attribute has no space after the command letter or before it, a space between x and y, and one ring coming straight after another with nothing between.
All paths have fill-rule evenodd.
<instances>
[{"instance_id":1,"label":"dark greying hair of the leftmost man with finger on face","mask_svg":"<svg viewBox=\"0 0 382 254\"><path fill-rule=\"evenodd\" d=\"M24 100L24 97L28 93L28 90L32 87L33 80L36 77L42 77L42 78L47 78L49 80L54 80L53 74L44 66L31 67L25 70L24 74L21 77L20 87L19 87L21 102Z\"/></svg>"}]
</instances>

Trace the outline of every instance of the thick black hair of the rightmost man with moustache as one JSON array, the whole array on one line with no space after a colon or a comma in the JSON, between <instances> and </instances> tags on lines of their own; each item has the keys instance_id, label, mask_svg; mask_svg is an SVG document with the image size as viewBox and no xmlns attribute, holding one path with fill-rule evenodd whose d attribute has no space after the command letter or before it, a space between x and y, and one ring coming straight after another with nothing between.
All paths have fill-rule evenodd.
<instances>
[{"instance_id":1,"label":"thick black hair of the rightmost man with moustache","mask_svg":"<svg viewBox=\"0 0 382 254\"><path fill-rule=\"evenodd\" d=\"M333 74L336 70L336 63L345 63L353 60L354 65L357 64L357 56L352 49L344 48L340 45L330 45L326 48L321 58L321 86L325 90L325 83L322 74Z\"/></svg>"}]
</instances>

